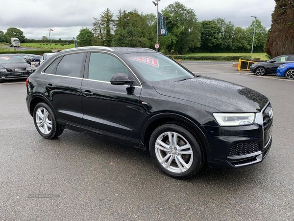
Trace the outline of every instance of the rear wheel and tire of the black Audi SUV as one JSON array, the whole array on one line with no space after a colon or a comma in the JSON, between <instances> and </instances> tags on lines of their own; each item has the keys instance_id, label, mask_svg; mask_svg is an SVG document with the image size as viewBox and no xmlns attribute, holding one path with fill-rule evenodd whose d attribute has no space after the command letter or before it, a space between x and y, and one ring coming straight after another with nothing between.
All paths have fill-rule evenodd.
<instances>
[{"instance_id":1,"label":"rear wheel and tire of the black Audi SUV","mask_svg":"<svg viewBox=\"0 0 294 221\"><path fill-rule=\"evenodd\" d=\"M34 109L34 123L38 133L47 139L60 136L63 132L61 126L56 122L53 111L46 103L39 103ZM46 123L45 123L46 122Z\"/></svg>"}]
</instances>

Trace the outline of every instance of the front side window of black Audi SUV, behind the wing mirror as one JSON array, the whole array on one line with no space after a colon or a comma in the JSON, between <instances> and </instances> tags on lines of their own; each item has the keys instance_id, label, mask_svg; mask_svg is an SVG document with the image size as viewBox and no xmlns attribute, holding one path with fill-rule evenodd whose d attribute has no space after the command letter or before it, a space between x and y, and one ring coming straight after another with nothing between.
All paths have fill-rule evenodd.
<instances>
[{"instance_id":1,"label":"front side window of black Audi SUV, behind the wing mirror","mask_svg":"<svg viewBox=\"0 0 294 221\"><path fill-rule=\"evenodd\" d=\"M111 77L117 73L124 73L133 80L126 67L116 57L103 53L91 53L89 79L110 82Z\"/></svg>"}]
</instances>

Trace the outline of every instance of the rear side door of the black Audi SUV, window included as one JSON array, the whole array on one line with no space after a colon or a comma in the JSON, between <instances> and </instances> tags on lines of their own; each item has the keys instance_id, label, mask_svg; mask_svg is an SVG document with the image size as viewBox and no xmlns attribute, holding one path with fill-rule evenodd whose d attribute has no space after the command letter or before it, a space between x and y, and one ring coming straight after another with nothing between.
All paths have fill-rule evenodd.
<instances>
[{"instance_id":1,"label":"rear side door of the black Audi SUV, window included","mask_svg":"<svg viewBox=\"0 0 294 221\"><path fill-rule=\"evenodd\" d=\"M86 53L72 53L57 57L43 74L45 94L53 106L57 120L69 129L84 131L81 83Z\"/></svg>"}]
</instances>

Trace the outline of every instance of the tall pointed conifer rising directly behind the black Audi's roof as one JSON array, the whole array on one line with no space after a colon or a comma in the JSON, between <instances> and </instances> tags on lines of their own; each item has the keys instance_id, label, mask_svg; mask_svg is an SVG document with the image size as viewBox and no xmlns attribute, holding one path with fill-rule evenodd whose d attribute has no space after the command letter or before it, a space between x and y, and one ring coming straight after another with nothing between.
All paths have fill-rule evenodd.
<instances>
[{"instance_id":1,"label":"tall pointed conifer rising directly behind the black Audi's roof","mask_svg":"<svg viewBox=\"0 0 294 221\"><path fill-rule=\"evenodd\" d=\"M109 8L104 9L104 11L100 14L99 19L94 18L94 23L92 25L94 36L101 40L99 42L104 46L111 46L113 29L115 26L111 10Z\"/></svg>"}]
</instances>

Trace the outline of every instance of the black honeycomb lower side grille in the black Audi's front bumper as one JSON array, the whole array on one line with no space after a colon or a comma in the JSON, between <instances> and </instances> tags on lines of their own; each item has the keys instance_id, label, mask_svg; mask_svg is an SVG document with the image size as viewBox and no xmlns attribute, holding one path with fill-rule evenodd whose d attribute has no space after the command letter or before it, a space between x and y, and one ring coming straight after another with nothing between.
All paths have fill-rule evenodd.
<instances>
[{"instance_id":1,"label":"black honeycomb lower side grille in the black Audi's front bumper","mask_svg":"<svg viewBox=\"0 0 294 221\"><path fill-rule=\"evenodd\" d=\"M259 144L257 142L241 142L233 143L229 151L228 156L238 156L260 151Z\"/></svg>"}]
</instances>

